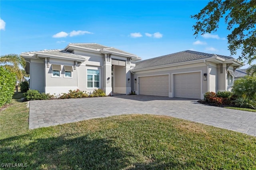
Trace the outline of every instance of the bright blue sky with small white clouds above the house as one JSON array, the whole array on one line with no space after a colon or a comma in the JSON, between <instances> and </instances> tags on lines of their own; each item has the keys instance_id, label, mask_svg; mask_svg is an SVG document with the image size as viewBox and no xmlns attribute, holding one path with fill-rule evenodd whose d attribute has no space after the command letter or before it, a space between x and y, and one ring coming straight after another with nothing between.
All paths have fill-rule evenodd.
<instances>
[{"instance_id":1,"label":"bright blue sky with small white clouds above the house","mask_svg":"<svg viewBox=\"0 0 256 170\"><path fill-rule=\"evenodd\" d=\"M99 43L142 59L184 50L229 56L224 23L215 33L196 39L193 35L196 20L190 16L207 3L1 0L0 55L63 49L68 43Z\"/></svg>"}]
</instances>

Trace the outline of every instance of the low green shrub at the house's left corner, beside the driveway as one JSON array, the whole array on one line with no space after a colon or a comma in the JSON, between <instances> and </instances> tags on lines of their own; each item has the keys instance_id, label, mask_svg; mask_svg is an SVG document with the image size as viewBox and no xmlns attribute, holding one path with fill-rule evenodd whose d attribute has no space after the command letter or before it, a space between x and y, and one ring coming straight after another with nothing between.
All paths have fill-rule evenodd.
<instances>
[{"instance_id":1,"label":"low green shrub at the house's left corner, beside the driveway","mask_svg":"<svg viewBox=\"0 0 256 170\"><path fill-rule=\"evenodd\" d=\"M54 99L54 95L51 95L50 93L39 93L38 90L28 90L26 93L24 93L24 96L26 100L50 100Z\"/></svg>"}]
</instances>

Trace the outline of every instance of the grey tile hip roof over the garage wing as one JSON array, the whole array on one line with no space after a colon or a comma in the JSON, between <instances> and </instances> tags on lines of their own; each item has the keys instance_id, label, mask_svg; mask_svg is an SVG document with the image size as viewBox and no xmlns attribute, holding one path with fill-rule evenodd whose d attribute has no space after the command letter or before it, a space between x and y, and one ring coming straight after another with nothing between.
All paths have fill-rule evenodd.
<instances>
[{"instance_id":1,"label":"grey tile hip roof over the garage wing","mask_svg":"<svg viewBox=\"0 0 256 170\"><path fill-rule=\"evenodd\" d=\"M233 57L224 56L224 55L215 55L215 54L186 50L178 53L156 57L153 59L137 61L136 66L133 70L152 67L152 66L160 66L165 64L180 63L184 61L192 61L192 60L203 59L208 57L216 57L216 56L222 59L234 59Z\"/></svg>"}]
</instances>

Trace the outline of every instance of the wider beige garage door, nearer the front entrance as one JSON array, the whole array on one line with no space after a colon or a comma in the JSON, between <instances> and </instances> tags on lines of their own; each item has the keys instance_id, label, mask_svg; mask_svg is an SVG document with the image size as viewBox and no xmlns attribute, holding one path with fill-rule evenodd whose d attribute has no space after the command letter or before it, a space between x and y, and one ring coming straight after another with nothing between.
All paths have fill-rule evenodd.
<instances>
[{"instance_id":1,"label":"wider beige garage door, nearer the front entrance","mask_svg":"<svg viewBox=\"0 0 256 170\"><path fill-rule=\"evenodd\" d=\"M142 95L169 96L169 75L140 77L139 88Z\"/></svg>"}]
</instances>

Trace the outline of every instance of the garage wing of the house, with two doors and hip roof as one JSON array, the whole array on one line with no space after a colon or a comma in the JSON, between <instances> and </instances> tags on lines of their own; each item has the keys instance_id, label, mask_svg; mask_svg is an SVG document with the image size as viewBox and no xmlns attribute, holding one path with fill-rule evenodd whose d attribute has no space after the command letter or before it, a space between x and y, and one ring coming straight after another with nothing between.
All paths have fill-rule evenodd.
<instances>
[{"instance_id":1,"label":"garage wing of the house, with two doors and hip roof","mask_svg":"<svg viewBox=\"0 0 256 170\"><path fill-rule=\"evenodd\" d=\"M231 90L233 57L182 51L136 62L131 70L136 94L203 99L206 92Z\"/></svg>"}]
</instances>

